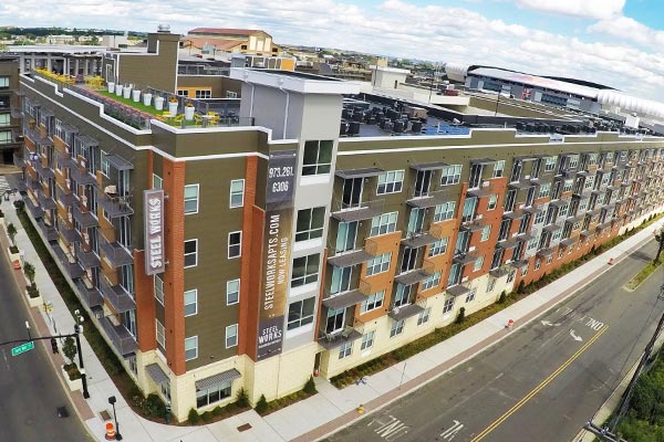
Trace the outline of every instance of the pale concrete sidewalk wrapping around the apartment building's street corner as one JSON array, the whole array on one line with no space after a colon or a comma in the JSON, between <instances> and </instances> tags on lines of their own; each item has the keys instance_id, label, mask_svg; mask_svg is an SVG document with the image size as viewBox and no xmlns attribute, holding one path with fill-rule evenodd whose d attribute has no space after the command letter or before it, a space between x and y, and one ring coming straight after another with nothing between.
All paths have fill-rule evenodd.
<instances>
[{"instance_id":1,"label":"pale concrete sidewalk wrapping around the apartment building's street corner","mask_svg":"<svg viewBox=\"0 0 664 442\"><path fill-rule=\"evenodd\" d=\"M11 178L8 177L8 179L11 182ZM35 267L37 285L44 302L53 304L53 312L50 315L43 312L42 308L31 308L30 314L33 323L42 333L46 330L55 333L55 329L72 333L74 318L66 309L64 301L59 296L53 282L49 278L41 260L15 215L12 202L13 199L0 203L0 209L4 212L6 223L12 222L15 225L18 230L17 245L24 251L25 261L31 262ZM87 373L90 399L83 399L82 393L79 391L71 393L71 398L76 408L76 414L84 421L90 433L98 441L105 440L105 427L104 421L100 418L100 412L111 410L107 402L110 396L117 398L115 408L120 432L127 442L304 442L318 440L360 419L361 415L355 411L360 404L363 404L365 409L363 417L386 407L392 401L433 381L509 336L509 333L505 329L505 325L509 319L515 320L513 328L525 326L551 306L571 296L575 291L611 269L606 264L610 257L613 257L614 262L618 263L652 240L653 232L662 224L663 221L656 222L626 239L611 251L551 283L546 288L535 292L525 299L510 305L444 343L413 356L405 362L400 362L369 377L366 385L353 385L343 390L338 390L326 380L317 378L318 394L264 418L261 418L253 410L249 410L232 418L200 427L163 425L142 419L124 401L83 336L81 344ZM0 238L3 243L7 242L4 234ZM21 275L20 272L17 272L17 275ZM89 324L87 326L92 325ZM48 351L50 354L50 348L48 348ZM53 356L60 357L59 355ZM61 359L58 360L58 364L61 364ZM54 367L56 367L55 362ZM238 427L247 423L251 425L250 429L238 430Z\"/></svg>"}]
</instances>

